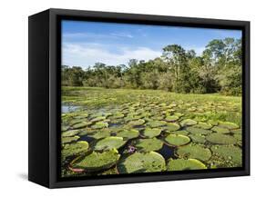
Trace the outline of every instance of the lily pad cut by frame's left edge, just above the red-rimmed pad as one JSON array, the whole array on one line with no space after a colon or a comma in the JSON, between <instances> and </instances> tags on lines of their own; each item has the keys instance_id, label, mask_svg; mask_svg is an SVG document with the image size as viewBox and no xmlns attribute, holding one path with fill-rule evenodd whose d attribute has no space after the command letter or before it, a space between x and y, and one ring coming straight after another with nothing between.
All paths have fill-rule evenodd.
<instances>
[{"instance_id":1,"label":"lily pad cut by frame's left edge, just above the red-rimmed pad","mask_svg":"<svg viewBox=\"0 0 256 197\"><path fill-rule=\"evenodd\" d=\"M87 153L89 144L86 141L79 141L77 143L70 143L65 145L64 149L61 151L64 158L69 156L78 155L80 153Z\"/></svg>"}]
</instances>

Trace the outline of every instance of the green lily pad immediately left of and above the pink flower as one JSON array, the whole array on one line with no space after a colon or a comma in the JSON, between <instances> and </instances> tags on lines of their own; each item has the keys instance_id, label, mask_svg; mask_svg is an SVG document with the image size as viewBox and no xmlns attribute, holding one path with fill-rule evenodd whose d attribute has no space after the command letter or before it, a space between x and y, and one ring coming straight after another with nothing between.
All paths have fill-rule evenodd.
<instances>
[{"instance_id":1,"label":"green lily pad immediately left of and above the pink flower","mask_svg":"<svg viewBox=\"0 0 256 197\"><path fill-rule=\"evenodd\" d=\"M125 143L127 143L127 142L124 141L124 139L122 137L110 136L110 137L106 137L102 140L99 140L95 144L94 150L100 151L100 150L111 150L114 148L118 149L121 146L123 146Z\"/></svg>"}]
</instances>

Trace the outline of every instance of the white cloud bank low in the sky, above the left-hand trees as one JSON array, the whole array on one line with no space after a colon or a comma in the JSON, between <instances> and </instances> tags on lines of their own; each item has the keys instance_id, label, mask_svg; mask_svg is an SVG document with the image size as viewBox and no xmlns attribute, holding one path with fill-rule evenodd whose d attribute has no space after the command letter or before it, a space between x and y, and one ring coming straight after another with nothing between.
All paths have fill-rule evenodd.
<instances>
[{"instance_id":1,"label":"white cloud bank low in the sky, above the left-hand trees","mask_svg":"<svg viewBox=\"0 0 256 197\"><path fill-rule=\"evenodd\" d=\"M111 45L111 47L118 47ZM129 59L148 61L161 55L160 51L155 51L147 47L121 48L120 53L110 52L109 48L103 44L63 44L62 64L79 65L87 67L97 62L118 65L127 64Z\"/></svg>"}]
</instances>

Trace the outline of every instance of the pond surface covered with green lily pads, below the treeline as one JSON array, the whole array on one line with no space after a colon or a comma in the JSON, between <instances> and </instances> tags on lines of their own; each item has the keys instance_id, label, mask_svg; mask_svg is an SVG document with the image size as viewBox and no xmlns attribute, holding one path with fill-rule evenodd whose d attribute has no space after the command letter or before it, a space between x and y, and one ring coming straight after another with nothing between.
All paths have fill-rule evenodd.
<instances>
[{"instance_id":1,"label":"pond surface covered with green lily pads, below the treeline","mask_svg":"<svg viewBox=\"0 0 256 197\"><path fill-rule=\"evenodd\" d=\"M63 177L241 167L240 97L62 89Z\"/></svg>"}]
</instances>

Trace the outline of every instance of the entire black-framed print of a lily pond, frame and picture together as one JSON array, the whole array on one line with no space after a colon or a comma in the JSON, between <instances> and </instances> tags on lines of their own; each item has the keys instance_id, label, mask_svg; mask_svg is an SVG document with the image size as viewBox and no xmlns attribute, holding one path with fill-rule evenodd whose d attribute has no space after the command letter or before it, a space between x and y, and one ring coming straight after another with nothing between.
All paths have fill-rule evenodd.
<instances>
[{"instance_id":1,"label":"entire black-framed print of a lily pond, frame and picture together","mask_svg":"<svg viewBox=\"0 0 256 197\"><path fill-rule=\"evenodd\" d=\"M29 17L30 181L249 174L249 22L62 9Z\"/></svg>"}]
</instances>

